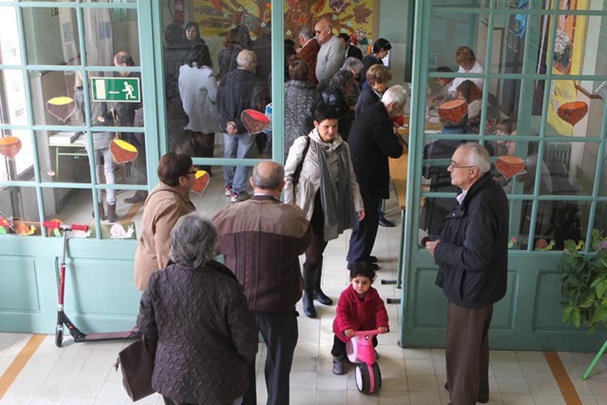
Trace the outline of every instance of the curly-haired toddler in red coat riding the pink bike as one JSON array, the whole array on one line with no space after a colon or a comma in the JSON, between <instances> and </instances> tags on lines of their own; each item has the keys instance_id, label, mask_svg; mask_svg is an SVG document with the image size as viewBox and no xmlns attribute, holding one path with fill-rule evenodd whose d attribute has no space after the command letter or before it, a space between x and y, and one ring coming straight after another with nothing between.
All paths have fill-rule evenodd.
<instances>
[{"instance_id":1,"label":"curly-haired toddler in red coat riding the pink bike","mask_svg":"<svg viewBox=\"0 0 607 405\"><path fill-rule=\"evenodd\" d=\"M354 335L354 330L377 329L388 332L388 313L378 291L371 287L375 270L370 264L359 262L350 270L350 285L339 295L333 321L333 373L343 374L345 344ZM373 346L377 346L373 338Z\"/></svg>"}]
</instances>

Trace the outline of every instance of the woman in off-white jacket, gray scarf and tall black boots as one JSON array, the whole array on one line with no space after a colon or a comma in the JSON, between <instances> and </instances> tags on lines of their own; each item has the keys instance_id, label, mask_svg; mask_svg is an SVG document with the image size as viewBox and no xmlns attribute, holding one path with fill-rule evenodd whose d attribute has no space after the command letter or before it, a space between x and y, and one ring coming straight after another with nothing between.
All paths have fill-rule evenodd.
<instances>
[{"instance_id":1,"label":"woman in off-white jacket, gray scarf and tall black boots","mask_svg":"<svg viewBox=\"0 0 607 405\"><path fill-rule=\"evenodd\" d=\"M327 242L365 216L350 149L337 133L339 112L320 103L314 118L314 129L294 141L285 163L285 203L304 210L314 233L303 271L304 312L310 318L316 317L314 300L333 304L320 290L322 253Z\"/></svg>"}]
</instances>

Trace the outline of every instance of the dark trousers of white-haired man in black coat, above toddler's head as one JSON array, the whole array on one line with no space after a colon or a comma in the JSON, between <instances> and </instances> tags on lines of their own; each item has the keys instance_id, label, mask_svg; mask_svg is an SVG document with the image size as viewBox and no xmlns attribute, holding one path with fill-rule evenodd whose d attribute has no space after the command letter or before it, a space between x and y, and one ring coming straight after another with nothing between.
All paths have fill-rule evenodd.
<instances>
[{"instance_id":1,"label":"dark trousers of white-haired man in black coat, above toddler's head","mask_svg":"<svg viewBox=\"0 0 607 405\"><path fill-rule=\"evenodd\" d=\"M379 197L370 196L361 190L362 202L365 206L365 219L356 221L350 236L350 249L348 250L348 264L362 262L371 255L375 237L378 234Z\"/></svg>"}]
</instances>

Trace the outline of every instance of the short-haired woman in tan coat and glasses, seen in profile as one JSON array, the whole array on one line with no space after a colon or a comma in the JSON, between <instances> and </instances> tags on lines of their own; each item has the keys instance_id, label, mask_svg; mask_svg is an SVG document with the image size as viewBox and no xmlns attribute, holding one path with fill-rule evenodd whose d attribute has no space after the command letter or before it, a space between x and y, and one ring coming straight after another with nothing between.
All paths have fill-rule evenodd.
<instances>
[{"instance_id":1,"label":"short-haired woman in tan coat and glasses, seen in profile","mask_svg":"<svg viewBox=\"0 0 607 405\"><path fill-rule=\"evenodd\" d=\"M143 208L143 231L135 252L135 287L145 291L149 276L169 261L169 236L177 220L195 211L188 191L195 182L192 158L169 152L158 163L160 184L152 189Z\"/></svg>"}]
</instances>

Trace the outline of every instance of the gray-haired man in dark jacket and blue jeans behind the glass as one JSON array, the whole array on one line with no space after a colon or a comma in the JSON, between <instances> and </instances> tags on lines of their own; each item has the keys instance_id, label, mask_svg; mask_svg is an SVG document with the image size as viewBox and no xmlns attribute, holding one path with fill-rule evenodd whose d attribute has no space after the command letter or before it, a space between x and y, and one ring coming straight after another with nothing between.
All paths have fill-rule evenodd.
<instances>
[{"instance_id":1,"label":"gray-haired man in dark jacket and blue jeans behind the glass","mask_svg":"<svg viewBox=\"0 0 607 405\"><path fill-rule=\"evenodd\" d=\"M223 156L246 158L255 142L255 134L249 134L240 119L246 109L264 111L265 86L255 76L257 55L252 50L241 50L236 57L237 69L222 78L217 92L217 109L223 131ZM246 200L246 166L223 166L225 195L231 202Z\"/></svg>"}]
</instances>

